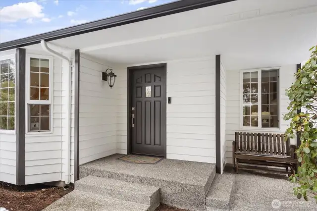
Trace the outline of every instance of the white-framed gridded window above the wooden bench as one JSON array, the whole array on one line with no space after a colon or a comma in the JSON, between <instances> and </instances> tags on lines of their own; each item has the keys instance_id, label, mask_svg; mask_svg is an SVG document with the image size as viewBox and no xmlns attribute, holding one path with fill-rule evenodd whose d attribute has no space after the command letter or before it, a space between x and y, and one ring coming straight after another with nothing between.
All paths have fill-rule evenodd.
<instances>
[{"instance_id":1,"label":"white-framed gridded window above the wooden bench","mask_svg":"<svg viewBox=\"0 0 317 211\"><path fill-rule=\"evenodd\" d=\"M279 128L279 69L243 71L241 86L243 128Z\"/></svg>"}]
</instances>

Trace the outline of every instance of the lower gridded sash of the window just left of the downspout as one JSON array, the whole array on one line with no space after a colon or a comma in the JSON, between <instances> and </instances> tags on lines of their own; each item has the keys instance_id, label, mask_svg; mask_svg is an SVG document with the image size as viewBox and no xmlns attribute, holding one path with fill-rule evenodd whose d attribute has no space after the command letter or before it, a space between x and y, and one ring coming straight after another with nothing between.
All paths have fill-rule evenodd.
<instances>
[{"instance_id":1,"label":"lower gridded sash of the window just left of the downspout","mask_svg":"<svg viewBox=\"0 0 317 211\"><path fill-rule=\"evenodd\" d=\"M50 131L51 105L29 105L29 131Z\"/></svg>"}]
</instances>

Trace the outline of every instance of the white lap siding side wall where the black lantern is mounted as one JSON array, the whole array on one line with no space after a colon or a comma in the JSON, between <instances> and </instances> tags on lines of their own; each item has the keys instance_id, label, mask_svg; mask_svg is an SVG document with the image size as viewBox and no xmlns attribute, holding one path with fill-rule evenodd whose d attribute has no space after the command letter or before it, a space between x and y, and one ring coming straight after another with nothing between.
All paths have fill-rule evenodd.
<instances>
[{"instance_id":1,"label":"white lap siding side wall where the black lantern is mounted","mask_svg":"<svg viewBox=\"0 0 317 211\"><path fill-rule=\"evenodd\" d=\"M116 153L116 93L114 87L110 89L108 83L101 80L101 72L106 71L107 68L111 67L81 54L79 82L80 165ZM117 74L117 72L115 73ZM74 127L73 123L72 127ZM71 145L71 151L73 157L74 144Z\"/></svg>"}]
</instances>

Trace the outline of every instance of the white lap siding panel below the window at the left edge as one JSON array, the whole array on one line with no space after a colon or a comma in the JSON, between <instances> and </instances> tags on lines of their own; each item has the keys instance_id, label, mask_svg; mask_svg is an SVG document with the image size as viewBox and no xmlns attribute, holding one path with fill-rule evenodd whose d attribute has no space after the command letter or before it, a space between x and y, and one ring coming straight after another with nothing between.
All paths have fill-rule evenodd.
<instances>
[{"instance_id":1,"label":"white lap siding panel below the window at the left edge","mask_svg":"<svg viewBox=\"0 0 317 211\"><path fill-rule=\"evenodd\" d=\"M0 133L0 181L16 183L16 135Z\"/></svg>"}]
</instances>

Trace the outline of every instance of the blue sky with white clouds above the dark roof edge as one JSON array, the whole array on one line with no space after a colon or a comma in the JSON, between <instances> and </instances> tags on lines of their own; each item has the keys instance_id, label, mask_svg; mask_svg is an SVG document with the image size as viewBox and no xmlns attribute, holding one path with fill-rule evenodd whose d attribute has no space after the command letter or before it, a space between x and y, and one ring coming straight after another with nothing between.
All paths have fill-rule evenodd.
<instances>
[{"instance_id":1,"label":"blue sky with white clouds above the dark roof edge","mask_svg":"<svg viewBox=\"0 0 317 211\"><path fill-rule=\"evenodd\" d=\"M174 0L0 0L0 42Z\"/></svg>"}]
</instances>

